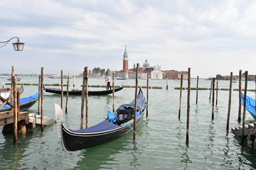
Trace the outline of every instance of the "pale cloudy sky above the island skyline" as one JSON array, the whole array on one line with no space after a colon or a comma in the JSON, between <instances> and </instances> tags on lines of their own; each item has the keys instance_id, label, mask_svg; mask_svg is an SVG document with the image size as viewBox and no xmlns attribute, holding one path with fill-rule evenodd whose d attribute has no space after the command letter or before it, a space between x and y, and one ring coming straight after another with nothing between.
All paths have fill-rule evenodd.
<instances>
[{"instance_id":1,"label":"pale cloudy sky above the island skyline","mask_svg":"<svg viewBox=\"0 0 256 170\"><path fill-rule=\"evenodd\" d=\"M192 77L256 74L255 0L1 0L0 73L80 74L145 60ZM2 45L2 44L0 44Z\"/></svg>"}]
</instances>

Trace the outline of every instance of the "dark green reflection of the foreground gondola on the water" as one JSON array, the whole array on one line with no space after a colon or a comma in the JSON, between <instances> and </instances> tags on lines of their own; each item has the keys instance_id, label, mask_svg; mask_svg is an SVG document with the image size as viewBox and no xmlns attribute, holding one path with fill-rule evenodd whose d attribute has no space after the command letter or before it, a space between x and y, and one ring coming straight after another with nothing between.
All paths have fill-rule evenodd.
<instances>
[{"instance_id":1,"label":"dark green reflection of the foreground gondola on the water","mask_svg":"<svg viewBox=\"0 0 256 170\"><path fill-rule=\"evenodd\" d=\"M132 139L132 132L130 132L117 140L81 150L78 154L80 159L76 162L74 169L114 169L114 167L125 169L124 166L128 165L126 168L139 169L141 160L138 155L149 146L146 141L150 135L148 124L147 119L142 121L142 125L139 125L137 129L135 140Z\"/></svg>"}]
</instances>

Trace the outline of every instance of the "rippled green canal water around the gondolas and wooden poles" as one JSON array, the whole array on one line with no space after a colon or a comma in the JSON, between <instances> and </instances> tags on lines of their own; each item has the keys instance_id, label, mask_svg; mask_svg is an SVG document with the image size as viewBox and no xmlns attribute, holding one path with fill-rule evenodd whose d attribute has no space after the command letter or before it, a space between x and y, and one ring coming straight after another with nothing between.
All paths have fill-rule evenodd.
<instances>
[{"instance_id":1,"label":"rippled green canal water around the gondolas and wooden poles","mask_svg":"<svg viewBox=\"0 0 256 170\"><path fill-rule=\"evenodd\" d=\"M35 77L22 77L23 83L38 83ZM1 79L1 84L8 82ZM60 79L47 79L46 84L60 83ZM72 82L72 80L71 80ZM65 79L66 83L66 79ZM76 79L76 89L82 79ZM105 85L104 79L89 79L90 85ZM134 86L134 79L116 80L115 85ZM149 117L144 116L137 129L137 138L132 132L124 137L97 147L77 152L65 152L56 125L48 125L41 132L37 126L27 135L18 135L18 144L14 145L13 135L0 133L0 169L256 169L256 154L250 143L240 145L240 139L232 132L226 132L229 91L218 91L218 106L215 118L211 119L209 90L191 91L189 145L186 145L186 101L187 91L183 91L181 120L178 120L180 81L149 80L150 86L162 86L163 89L149 89ZM183 81L187 86L187 81ZM146 80L139 80L146 86ZM229 88L229 81L219 81L219 88ZM244 86L244 82L242 82ZM196 80L191 80L196 87ZM199 87L210 88L210 81L200 80ZM238 82L233 83L238 89ZM255 89L255 82L248 82L248 89ZM90 88L90 90L100 90ZM38 91L37 86L25 86L21 97L30 96ZM146 94L146 89L143 89ZM134 98L134 88L125 88L115 94L116 108L129 103ZM247 92L255 97L254 92ZM43 106L44 115L54 117L54 103L60 104L60 96L46 93ZM65 103L65 100L64 100ZM70 96L68 113L63 113L65 125L72 130L80 128L80 96ZM36 113L36 103L28 112ZM89 96L89 126L99 123L112 110L112 95ZM232 91L230 128L238 126L238 91ZM253 120L246 113L246 120ZM0 127L2 130L2 127ZM231 130L230 130L231 131Z\"/></svg>"}]
</instances>

